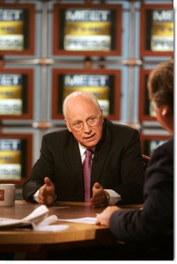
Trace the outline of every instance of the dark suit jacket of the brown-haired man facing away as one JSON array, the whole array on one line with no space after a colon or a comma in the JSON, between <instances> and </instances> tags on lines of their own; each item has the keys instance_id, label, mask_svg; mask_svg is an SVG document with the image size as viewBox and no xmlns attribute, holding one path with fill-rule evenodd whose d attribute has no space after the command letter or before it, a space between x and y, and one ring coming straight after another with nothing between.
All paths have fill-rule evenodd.
<instances>
[{"instance_id":1,"label":"dark suit jacket of the brown-haired man facing away","mask_svg":"<svg viewBox=\"0 0 177 264\"><path fill-rule=\"evenodd\" d=\"M144 183L144 209L114 212L110 230L125 242L173 241L174 139L157 148L151 157Z\"/></svg>"}]
</instances>

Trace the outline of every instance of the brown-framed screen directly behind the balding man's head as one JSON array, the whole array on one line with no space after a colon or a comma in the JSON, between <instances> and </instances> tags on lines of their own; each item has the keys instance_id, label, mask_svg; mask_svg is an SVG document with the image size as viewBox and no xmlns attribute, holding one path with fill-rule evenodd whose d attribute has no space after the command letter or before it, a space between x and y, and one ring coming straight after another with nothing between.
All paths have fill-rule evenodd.
<instances>
[{"instance_id":1,"label":"brown-framed screen directly behind the balding man's head","mask_svg":"<svg viewBox=\"0 0 177 264\"><path fill-rule=\"evenodd\" d=\"M103 115L112 120L120 118L121 70L53 69L52 118L63 119L63 100L74 91L93 93Z\"/></svg>"}]
</instances>

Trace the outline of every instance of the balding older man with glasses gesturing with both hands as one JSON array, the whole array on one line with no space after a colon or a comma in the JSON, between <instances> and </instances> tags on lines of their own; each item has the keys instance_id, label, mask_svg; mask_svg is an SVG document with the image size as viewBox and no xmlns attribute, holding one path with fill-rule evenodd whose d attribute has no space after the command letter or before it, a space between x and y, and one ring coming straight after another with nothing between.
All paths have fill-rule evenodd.
<instances>
[{"instance_id":1,"label":"balding older man with glasses gesturing with both hands","mask_svg":"<svg viewBox=\"0 0 177 264\"><path fill-rule=\"evenodd\" d=\"M103 118L91 93L75 92L63 103L68 130L45 134L41 154L24 184L26 201L84 201L82 162L93 150L91 205L141 203L144 162L139 132Z\"/></svg>"}]
</instances>

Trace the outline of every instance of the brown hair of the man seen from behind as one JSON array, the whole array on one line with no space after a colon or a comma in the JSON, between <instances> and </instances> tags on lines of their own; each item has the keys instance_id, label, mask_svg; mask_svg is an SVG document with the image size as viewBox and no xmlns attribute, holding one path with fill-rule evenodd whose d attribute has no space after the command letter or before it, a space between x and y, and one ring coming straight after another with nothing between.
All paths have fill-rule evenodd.
<instances>
[{"instance_id":1,"label":"brown hair of the man seen from behind","mask_svg":"<svg viewBox=\"0 0 177 264\"><path fill-rule=\"evenodd\" d=\"M148 76L149 99L167 105L174 114L174 60L159 63Z\"/></svg>"}]
</instances>

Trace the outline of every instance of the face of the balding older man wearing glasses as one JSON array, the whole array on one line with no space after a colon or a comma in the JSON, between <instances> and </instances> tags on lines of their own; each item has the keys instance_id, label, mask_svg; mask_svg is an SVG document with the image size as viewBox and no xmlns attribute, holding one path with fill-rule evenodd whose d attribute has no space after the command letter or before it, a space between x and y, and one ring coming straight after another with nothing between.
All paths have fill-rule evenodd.
<instances>
[{"instance_id":1,"label":"face of the balding older man wearing glasses","mask_svg":"<svg viewBox=\"0 0 177 264\"><path fill-rule=\"evenodd\" d=\"M102 138L102 112L91 101L82 96L72 98L67 105L67 121L68 130L72 132L75 139L84 147L92 148L96 146L98 141ZM100 115L99 115L100 114ZM97 118L97 123L94 126L88 125L91 118ZM86 123L88 121L88 123ZM75 130L75 124L83 122L82 130ZM74 125L74 126L73 126Z\"/></svg>"}]
</instances>

